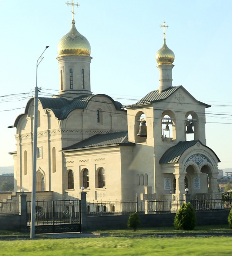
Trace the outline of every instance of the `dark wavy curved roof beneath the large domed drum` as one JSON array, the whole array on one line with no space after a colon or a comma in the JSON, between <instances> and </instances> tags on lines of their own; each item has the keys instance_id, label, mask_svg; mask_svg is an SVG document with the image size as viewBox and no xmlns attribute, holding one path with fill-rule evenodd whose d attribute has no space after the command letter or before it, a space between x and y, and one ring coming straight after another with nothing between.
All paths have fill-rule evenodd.
<instances>
[{"instance_id":1,"label":"dark wavy curved roof beneath the large domed drum","mask_svg":"<svg viewBox=\"0 0 232 256\"><path fill-rule=\"evenodd\" d=\"M114 105L116 110L120 111L126 111L122 109L122 104L118 101L114 101L110 96L105 94L96 94L96 95L90 95L90 96L79 96L71 101L65 99L65 98L43 98L39 97L39 101L43 106L43 109L49 109L52 110L55 117L58 119L66 119L68 114L72 112L74 109L85 109L90 101L94 101L94 97L104 97L108 98ZM34 98L31 98L26 105L24 114L20 114L16 120L15 124L12 127L16 127L20 118L23 115L27 115L29 111L29 106L31 102L34 101Z\"/></svg>"}]
</instances>

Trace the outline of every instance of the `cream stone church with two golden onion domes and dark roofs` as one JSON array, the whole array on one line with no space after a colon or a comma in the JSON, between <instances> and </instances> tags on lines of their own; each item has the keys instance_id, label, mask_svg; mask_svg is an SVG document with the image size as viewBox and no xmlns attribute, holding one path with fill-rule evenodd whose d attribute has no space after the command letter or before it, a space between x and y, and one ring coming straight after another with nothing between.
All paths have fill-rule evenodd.
<instances>
[{"instance_id":1,"label":"cream stone church with two golden onion domes and dark roofs","mask_svg":"<svg viewBox=\"0 0 232 256\"><path fill-rule=\"evenodd\" d=\"M91 47L73 17L57 47L59 92L38 98L36 191L69 199L80 198L84 187L89 202L131 201L136 195L179 200L187 190L192 198L218 193L220 160L205 138L205 108L211 106L173 86L175 55L166 44L165 22L162 27L157 89L122 106L92 93ZM33 124L30 99L13 125L15 191L32 190Z\"/></svg>"}]
</instances>

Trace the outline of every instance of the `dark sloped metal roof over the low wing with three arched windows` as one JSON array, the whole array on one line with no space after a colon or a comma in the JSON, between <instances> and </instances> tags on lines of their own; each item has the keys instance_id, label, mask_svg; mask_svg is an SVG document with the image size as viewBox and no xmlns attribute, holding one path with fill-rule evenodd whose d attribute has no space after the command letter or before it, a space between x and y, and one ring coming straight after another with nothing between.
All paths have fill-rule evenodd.
<instances>
[{"instance_id":1,"label":"dark sloped metal roof over the low wing with three arched windows","mask_svg":"<svg viewBox=\"0 0 232 256\"><path fill-rule=\"evenodd\" d=\"M106 134L96 134L69 147L62 148L62 151L116 145L133 146L135 144L128 141L128 131L118 131Z\"/></svg>"}]
</instances>

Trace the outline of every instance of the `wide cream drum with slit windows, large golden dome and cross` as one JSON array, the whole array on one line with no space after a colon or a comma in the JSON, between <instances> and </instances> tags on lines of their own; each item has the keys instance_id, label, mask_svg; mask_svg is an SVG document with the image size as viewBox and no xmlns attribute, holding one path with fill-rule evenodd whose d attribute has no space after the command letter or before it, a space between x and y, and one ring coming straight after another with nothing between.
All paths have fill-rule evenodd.
<instances>
[{"instance_id":1,"label":"wide cream drum with slit windows, large golden dome and cross","mask_svg":"<svg viewBox=\"0 0 232 256\"><path fill-rule=\"evenodd\" d=\"M89 41L81 35L74 20L74 6L79 4L68 3L72 6L72 27L61 38L57 46L59 64L59 96L72 100L79 95L90 95L90 62L92 57Z\"/></svg>"}]
</instances>

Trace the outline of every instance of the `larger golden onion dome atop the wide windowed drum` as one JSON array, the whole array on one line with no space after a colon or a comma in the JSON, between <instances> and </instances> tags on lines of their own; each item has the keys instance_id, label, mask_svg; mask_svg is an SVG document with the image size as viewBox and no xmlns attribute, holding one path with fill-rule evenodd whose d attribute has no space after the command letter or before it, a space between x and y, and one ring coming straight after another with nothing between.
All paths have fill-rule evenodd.
<instances>
[{"instance_id":1,"label":"larger golden onion dome atop the wide windowed drum","mask_svg":"<svg viewBox=\"0 0 232 256\"><path fill-rule=\"evenodd\" d=\"M75 20L72 21L72 27L68 34L59 40L57 52L59 57L70 55L90 56L90 43L77 31L75 27Z\"/></svg>"}]
</instances>

